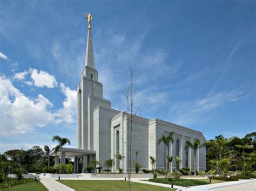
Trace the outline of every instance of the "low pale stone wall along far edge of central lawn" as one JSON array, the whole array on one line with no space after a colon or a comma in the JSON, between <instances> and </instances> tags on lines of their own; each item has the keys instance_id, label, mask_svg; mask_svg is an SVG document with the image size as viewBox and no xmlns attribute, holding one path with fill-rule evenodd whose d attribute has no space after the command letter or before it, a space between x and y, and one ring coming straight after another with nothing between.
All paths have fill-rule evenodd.
<instances>
[{"instance_id":1,"label":"low pale stone wall along far edge of central lawn","mask_svg":"<svg viewBox=\"0 0 256 191\"><path fill-rule=\"evenodd\" d=\"M89 174L86 174L89 176ZM123 173L92 173L92 178L127 178L128 174ZM131 178L153 178L153 174L131 174Z\"/></svg>"}]
</instances>

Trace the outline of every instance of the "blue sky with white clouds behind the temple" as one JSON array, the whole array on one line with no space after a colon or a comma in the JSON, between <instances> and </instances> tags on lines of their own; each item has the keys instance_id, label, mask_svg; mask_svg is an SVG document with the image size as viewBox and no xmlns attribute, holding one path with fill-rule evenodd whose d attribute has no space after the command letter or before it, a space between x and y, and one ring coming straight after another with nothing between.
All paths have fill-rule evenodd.
<instances>
[{"instance_id":1,"label":"blue sky with white clouds behind the temple","mask_svg":"<svg viewBox=\"0 0 256 191\"><path fill-rule=\"evenodd\" d=\"M95 66L112 108L136 65L140 116L217 135L255 131L254 1L1 1L0 152L77 147L76 88L92 13Z\"/></svg>"}]
</instances>

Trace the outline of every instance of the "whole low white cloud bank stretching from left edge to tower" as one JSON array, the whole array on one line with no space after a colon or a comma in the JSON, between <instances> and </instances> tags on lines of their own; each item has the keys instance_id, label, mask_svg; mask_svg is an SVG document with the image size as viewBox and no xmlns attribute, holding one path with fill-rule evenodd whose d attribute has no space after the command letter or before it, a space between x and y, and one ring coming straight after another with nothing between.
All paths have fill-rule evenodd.
<instances>
[{"instance_id":1,"label":"whole low white cloud bank stretching from left edge to tower","mask_svg":"<svg viewBox=\"0 0 256 191\"><path fill-rule=\"evenodd\" d=\"M63 107L55 112L48 98L42 94L36 98L25 96L5 75L0 75L0 84L2 135L26 133L48 124L76 122L76 90L71 90L63 83L60 83L60 90L65 95L65 100Z\"/></svg>"}]
</instances>

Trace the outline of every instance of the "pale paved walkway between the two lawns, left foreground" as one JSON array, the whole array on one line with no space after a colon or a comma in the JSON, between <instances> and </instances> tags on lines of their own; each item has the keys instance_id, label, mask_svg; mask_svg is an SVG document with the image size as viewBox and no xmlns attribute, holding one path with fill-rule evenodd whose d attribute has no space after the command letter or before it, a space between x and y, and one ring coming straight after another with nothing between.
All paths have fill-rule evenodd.
<instances>
[{"instance_id":1,"label":"pale paved walkway between the two lawns, left foreground","mask_svg":"<svg viewBox=\"0 0 256 191\"><path fill-rule=\"evenodd\" d=\"M50 191L75 191L74 189L45 176L39 176L40 182Z\"/></svg>"}]
</instances>

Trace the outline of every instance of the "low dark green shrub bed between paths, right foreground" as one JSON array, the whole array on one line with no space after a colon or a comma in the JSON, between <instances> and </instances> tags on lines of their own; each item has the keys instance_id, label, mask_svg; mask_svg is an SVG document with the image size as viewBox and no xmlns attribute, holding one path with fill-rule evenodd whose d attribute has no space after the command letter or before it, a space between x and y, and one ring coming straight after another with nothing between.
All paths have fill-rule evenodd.
<instances>
[{"instance_id":1,"label":"low dark green shrub bed between paths, right foreground","mask_svg":"<svg viewBox=\"0 0 256 191\"><path fill-rule=\"evenodd\" d=\"M176 179L176 178L154 178L149 179L151 182L157 182L157 183L166 183L167 185L170 185L171 183L176 186L198 186L198 185L208 185L210 182L205 182L201 180L193 180L193 179Z\"/></svg>"}]
</instances>

